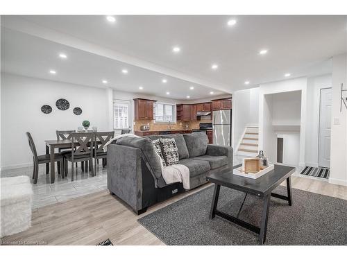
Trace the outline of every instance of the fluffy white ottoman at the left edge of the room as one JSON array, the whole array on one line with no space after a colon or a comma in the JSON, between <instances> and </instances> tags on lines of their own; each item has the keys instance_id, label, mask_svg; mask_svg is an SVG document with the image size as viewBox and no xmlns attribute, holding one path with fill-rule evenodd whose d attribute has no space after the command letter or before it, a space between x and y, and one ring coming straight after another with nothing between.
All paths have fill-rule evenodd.
<instances>
[{"instance_id":1,"label":"fluffy white ottoman at the left edge of the room","mask_svg":"<svg viewBox=\"0 0 347 260\"><path fill-rule=\"evenodd\" d=\"M31 227L33 188L28 176L0 179L1 237L22 232Z\"/></svg>"}]
</instances>

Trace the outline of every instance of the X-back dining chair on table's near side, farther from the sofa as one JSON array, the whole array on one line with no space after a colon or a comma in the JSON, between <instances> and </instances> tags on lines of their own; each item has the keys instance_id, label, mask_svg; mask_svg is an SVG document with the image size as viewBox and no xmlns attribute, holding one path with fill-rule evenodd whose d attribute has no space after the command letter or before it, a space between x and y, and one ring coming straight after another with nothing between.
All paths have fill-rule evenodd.
<instances>
[{"instance_id":1,"label":"X-back dining chair on table's near side, farther from the sofa","mask_svg":"<svg viewBox=\"0 0 347 260\"><path fill-rule=\"evenodd\" d=\"M74 163L75 162L89 162L90 171L94 176L93 165L93 132L73 132L71 133L71 153L64 155L68 162L71 162L71 181L74 181ZM68 173L68 163L65 164L65 173ZM77 173L77 169L76 169Z\"/></svg>"}]
</instances>

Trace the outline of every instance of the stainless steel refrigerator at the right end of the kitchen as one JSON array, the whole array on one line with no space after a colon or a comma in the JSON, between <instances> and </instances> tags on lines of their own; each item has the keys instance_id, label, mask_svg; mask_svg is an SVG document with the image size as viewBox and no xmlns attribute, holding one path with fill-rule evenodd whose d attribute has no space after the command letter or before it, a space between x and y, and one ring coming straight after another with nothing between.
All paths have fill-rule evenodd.
<instances>
[{"instance_id":1,"label":"stainless steel refrigerator at the right end of the kitchen","mask_svg":"<svg viewBox=\"0 0 347 260\"><path fill-rule=\"evenodd\" d=\"M231 146L231 110L217 110L212 116L213 144Z\"/></svg>"}]
</instances>

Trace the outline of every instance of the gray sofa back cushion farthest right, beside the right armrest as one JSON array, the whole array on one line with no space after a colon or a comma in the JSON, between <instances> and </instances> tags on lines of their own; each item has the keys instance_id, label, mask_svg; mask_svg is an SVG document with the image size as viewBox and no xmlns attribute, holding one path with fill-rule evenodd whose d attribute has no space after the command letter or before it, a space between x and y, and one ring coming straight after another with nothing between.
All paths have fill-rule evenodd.
<instances>
[{"instance_id":1,"label":"gray sofa back cushion farthest right, beside the right armrest","mask_svg":"<svg viewBox=\"0 0 347 260\"><path fill-rule=\"evenodd\" d=\"M187 144L189 158L206 154L208 148L208 136L205 132L193 132L184 134L185 144Z\"/></svg>"}]
</instances>

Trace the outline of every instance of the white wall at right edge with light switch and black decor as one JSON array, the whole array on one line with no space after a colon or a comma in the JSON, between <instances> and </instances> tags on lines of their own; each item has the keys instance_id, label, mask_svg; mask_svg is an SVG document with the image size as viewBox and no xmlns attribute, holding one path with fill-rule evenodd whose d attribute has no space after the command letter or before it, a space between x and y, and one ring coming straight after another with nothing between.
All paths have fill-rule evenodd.
<instances>
[{"instance_id":1,"label":"white wall at right edge with light switch and black decor","mask_svg":"<svg viewBox=\"0 0 347 260\"><path fill-rule=\"evenodd\" d=\"M342 107L341 83L347 89L347 54L332 58L332 128L329 182L347 186L347 110ZM346 97L346 92L344 94Z\"/></svg>"}]
</instances>

